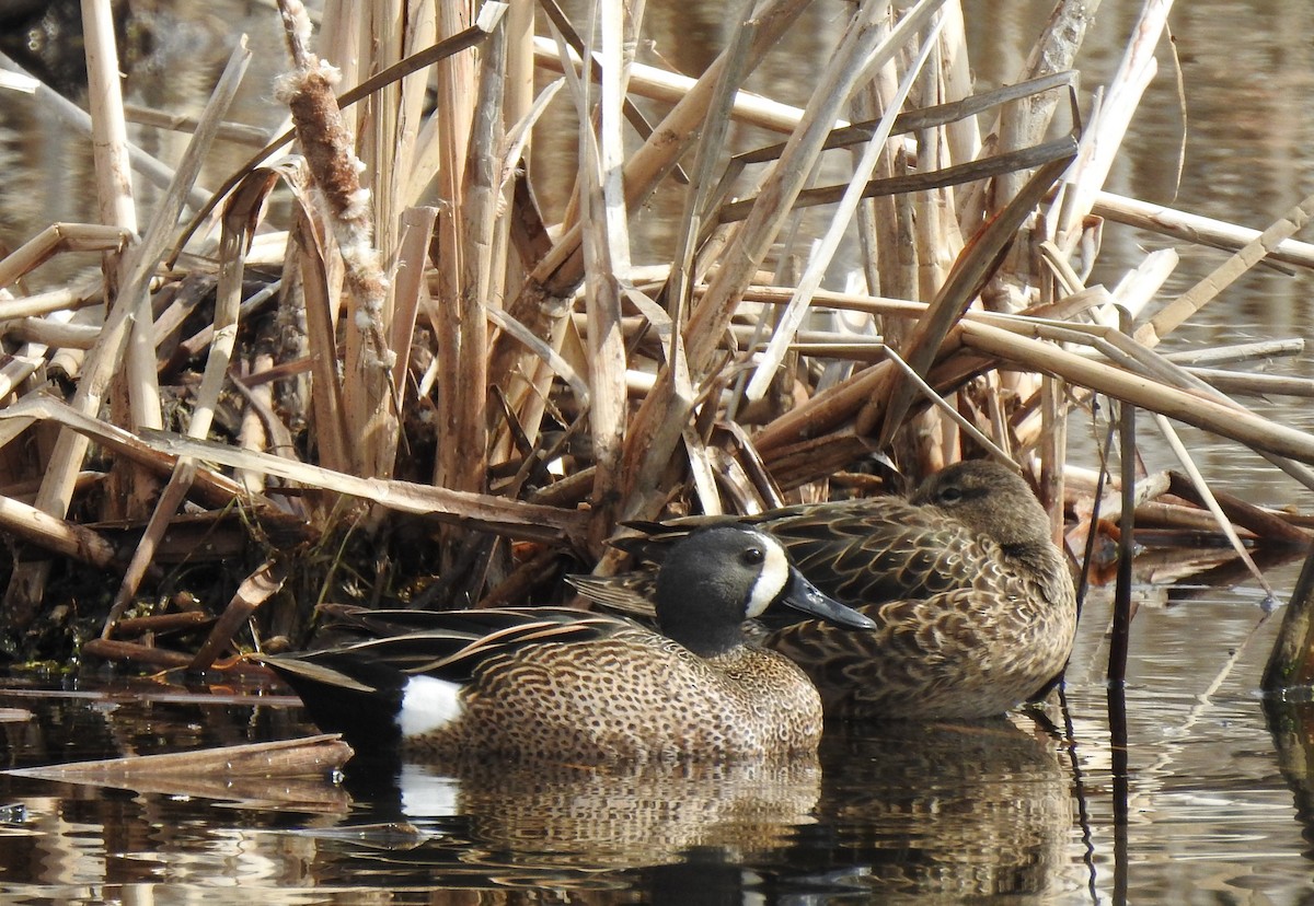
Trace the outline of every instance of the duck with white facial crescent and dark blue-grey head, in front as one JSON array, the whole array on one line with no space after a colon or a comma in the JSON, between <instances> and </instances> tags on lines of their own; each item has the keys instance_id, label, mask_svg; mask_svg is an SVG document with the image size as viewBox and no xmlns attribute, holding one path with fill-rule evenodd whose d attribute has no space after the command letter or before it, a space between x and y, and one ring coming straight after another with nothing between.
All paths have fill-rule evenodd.
<instances>
[{"instance_id":1,"label":"duck with white facial crescent and dark blue-grey head, in front","mask_svg":"<svg viewBox=\"0 0 1314 906\"><path fill-rule=\"evenodd\" d=\"M380 638L263 657L325 730L411 755L528 762L737 760L812 752L821 700L742 621L783 601L869 630L765 532L689 536L657 576L662 634L564 608L390 612ZM371 615L363 615L367 629ZM397 628L422 632L392 634Z\"/></svg>"}]
</instances>

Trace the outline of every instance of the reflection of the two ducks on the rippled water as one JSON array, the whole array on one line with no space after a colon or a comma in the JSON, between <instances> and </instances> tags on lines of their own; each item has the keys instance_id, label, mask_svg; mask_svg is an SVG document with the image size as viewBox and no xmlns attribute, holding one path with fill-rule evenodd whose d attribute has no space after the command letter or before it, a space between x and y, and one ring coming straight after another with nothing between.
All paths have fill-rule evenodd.
<instances>
[{"instance_id":1,"label":"reflection of the two ducks on the rippled water","mask_svg":"<svg viewBox=\"0 0 1314 906\"><path fill-rule=\"evenodd\" d=\"M1071 781L1054 739L1021 725L837 725L820 762L788 764L348 768L348 790L357 819L453 829L371 855L385 873L396 860L443 876L459 860L569 886L581 872L600 882L643 869L645 902L681 902L679 890L737 903L1075 889L1064 880Z\"/></svg>"}]
</instances>

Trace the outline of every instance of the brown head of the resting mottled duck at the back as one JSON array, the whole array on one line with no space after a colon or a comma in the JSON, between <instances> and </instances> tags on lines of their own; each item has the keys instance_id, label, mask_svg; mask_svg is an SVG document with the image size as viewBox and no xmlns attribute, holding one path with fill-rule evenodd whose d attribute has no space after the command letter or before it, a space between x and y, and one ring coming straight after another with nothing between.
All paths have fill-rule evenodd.
<instances>
[{"instance_id":1,"label":"brown head of the resting mottled duck at the back","mask_svg":"<svg viewBox=\"0 0 1314 906\"><path fill-rule=\"evenodd\" d=\"M957 462L921 483L912 502L936 507L1007 550L1050 544L1049 515L1021 475L997 462Z\"/></svg>"}]
</instances>

